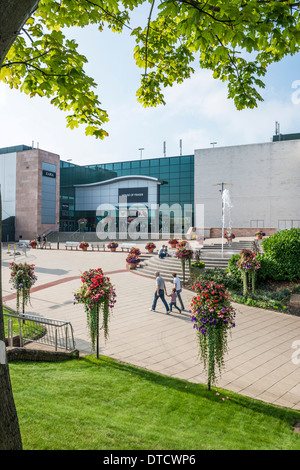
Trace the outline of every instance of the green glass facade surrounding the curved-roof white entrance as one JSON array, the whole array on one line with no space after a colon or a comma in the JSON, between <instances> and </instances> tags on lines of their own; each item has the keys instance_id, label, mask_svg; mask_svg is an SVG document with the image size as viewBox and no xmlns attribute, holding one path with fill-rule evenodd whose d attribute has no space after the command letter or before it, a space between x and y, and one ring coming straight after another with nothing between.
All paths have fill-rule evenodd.
<instances>
[{"instance_id":1,"label":"green glass facade surrounding the curved-roof white entrance","mask_svg":"<svg viewBox=\"0 0 300 470\"><path fill-rule=\"evenodd\" d=\"M163 181L159 187L160 204L185 204L194 212L194 155L132 160L78 166L61 161L60 230L77 230L77 220L88 219L86 230L95 230L95 214L76 211L75 184L89 184L120 176L145 175ZM89 211L90 212L90 211ZM193 217L192 217L193 219ZM193 220L191 223L193 224Z\"/></svg>"}]
</instances>

